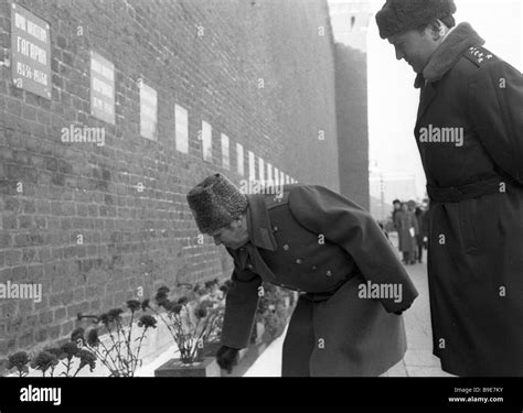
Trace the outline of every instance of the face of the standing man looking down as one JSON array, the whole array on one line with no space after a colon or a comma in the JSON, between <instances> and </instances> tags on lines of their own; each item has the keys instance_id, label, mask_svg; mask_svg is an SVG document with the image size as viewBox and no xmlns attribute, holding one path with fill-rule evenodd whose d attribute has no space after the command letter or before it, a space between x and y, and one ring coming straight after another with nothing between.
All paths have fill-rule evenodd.
<instances>
[{"instance_id":1,"label":"face of the standing man looking down","mask_svg":"<svg viewBox=\"0 0 523 413\"><path fill-rule=\"evenodd\" d=\"M428 61L438 47L438 42L434 40L430 28L424 32L409 30L408 32L388 37L396 50L396 58L405 59L415 73L423 73Z\"/></svg>"}]
</instances>

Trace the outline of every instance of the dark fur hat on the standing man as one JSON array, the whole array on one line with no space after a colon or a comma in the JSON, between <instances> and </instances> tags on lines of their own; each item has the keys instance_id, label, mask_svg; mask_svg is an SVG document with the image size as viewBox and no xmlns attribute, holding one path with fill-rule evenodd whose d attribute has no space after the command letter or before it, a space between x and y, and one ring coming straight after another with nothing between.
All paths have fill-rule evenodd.
<instances>
[{"instance_id":1,"label":"dark fur hat on the standing man","mask_svg":"<svg viewBox=\"0 0 523 413\"><path fill-rule=\"evenodd\" d=\"M391 37L456 13L453 0L387 0L376 13L382 39ZM453 21L453 20L452 20Z\"/></svg>"}]
</instances>

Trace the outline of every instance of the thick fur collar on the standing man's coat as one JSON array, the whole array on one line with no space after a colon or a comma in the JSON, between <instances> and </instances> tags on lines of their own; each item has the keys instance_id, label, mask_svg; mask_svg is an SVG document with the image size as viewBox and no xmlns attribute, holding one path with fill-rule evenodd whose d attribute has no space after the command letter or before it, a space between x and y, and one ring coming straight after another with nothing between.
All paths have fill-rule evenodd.
<instances>
[{"instance_id":1,"label":"thick fur collar on the standing man's coat","mask_svg":"<svg viewBox=\"0 0 523 413\"><path fill-rule=\"evenodd\" d=\"M441 79L458 63L469 47L482 46L483 44L484 40L479 36L469 23L458 24L439 45L433 57L430 57L423 74L418 74L414 86L419 88L425 80L433 83Z\"/></svg>"}]
</instances>

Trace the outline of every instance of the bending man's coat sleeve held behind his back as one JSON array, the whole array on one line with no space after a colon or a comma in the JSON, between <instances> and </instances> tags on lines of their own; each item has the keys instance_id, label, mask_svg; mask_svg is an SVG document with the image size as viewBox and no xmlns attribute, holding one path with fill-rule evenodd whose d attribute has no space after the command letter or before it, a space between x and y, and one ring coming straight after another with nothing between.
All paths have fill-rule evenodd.
<instances>
[{"instance_id":1,"label":"bending man's coat sleeve held behind his back","mask_svg":"<svg viewBox=\"0 0 523 413\"><path fill-rule=\"evenodd\" d=\"M322 186L299 186L289 207L301 226L343 248L364 279L375 284L402 285L402 301L382 298L389 313L408 308L418 292L382 230L360 206Z\"/></svg>"}]
</instances>

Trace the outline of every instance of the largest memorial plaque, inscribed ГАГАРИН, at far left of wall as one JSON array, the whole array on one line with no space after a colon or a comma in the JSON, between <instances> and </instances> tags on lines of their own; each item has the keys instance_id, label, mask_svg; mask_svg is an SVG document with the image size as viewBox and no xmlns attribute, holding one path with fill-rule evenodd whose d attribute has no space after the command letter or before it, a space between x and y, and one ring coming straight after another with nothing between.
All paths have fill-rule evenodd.
<instances>
[{"instance_id":1,"label":"largest memorial plaque, inscribed \u0413\u0410\u0413\u0410\u0420\u0418\u041d, at far left of wall","mask_svg":"<svg viewBox=\"0 0 523 413\"><path fill-rule=\"evenodd\" d=\"M51 99L51 28L19 4L11 4L12 77L17 87Z\"/></svg>"}]
</instances>

